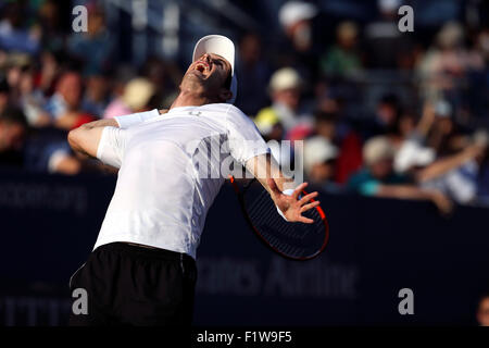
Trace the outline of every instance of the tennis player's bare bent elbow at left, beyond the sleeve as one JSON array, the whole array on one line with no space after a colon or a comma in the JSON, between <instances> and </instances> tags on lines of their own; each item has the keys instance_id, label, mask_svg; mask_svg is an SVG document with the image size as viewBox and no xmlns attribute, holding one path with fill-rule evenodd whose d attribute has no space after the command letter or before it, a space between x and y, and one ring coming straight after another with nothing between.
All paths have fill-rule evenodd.
<instances>
[{"instance_id":1,"label":"tennis player's bare bent elbow at left, beyond the sleeve","mask_svg":"<svg viewBox=\"0 0 489 348\"><path fill-rule=\"evenodd\" d=\"M118 123L114 119L104 119L93 121L79 126L68 133L68 142L74 151L97 157L100 138L104 127L118 127Z\"/></svg>"}]
</instances>

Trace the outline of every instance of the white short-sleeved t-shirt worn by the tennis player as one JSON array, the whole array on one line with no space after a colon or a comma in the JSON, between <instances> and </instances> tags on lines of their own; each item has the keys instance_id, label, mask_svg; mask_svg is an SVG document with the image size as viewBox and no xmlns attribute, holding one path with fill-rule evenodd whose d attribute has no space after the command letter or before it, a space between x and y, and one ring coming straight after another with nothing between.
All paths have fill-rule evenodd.
<instances>
[{"instance_id":1,"label":"white short-sleeved t-shirt worn by the tennis player","mask_svg":"<svg viewBox=\"0 0 489 348\"><path fill-rule=\"evenodd\" d=\"M269 153L268 147L254 123L231 104L148 115L128 128L102 132L97 157L120 171L93 249L128 241L196 258L205 215L226 178L222 163L230 156L244 165Z\"/></svg>"}]
</instances>

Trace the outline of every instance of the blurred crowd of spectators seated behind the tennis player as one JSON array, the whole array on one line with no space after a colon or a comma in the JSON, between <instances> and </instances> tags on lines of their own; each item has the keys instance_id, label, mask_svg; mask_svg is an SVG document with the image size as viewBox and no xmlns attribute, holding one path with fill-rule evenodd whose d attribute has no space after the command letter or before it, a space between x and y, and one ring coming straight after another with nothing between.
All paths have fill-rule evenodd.
<instances>
[{"instance_id":1,"label":"blurred crowd of spectators seated behind the tennis player","mask_svg":"<svg viewBox=\"0 0 489 348\"><path fill-rule=\"evenodd\" d=\"M66 132L165 109L177 95L186 66L153 54L140 65L121 60L100 2L86 2L87 33L66 24L70 1L1 3L4 170L104 171L71 151ZM344 16L331 24L319 3L284 1L275 13L278 29L234 37L236 105L266 140L303 141L303 153L294 156L306 179L326 191L426 199L442 213L453 203L487 204L487 22L453 18L401 33L404 2L375 1L368 21Z\"/></svg>"}]
</instances>

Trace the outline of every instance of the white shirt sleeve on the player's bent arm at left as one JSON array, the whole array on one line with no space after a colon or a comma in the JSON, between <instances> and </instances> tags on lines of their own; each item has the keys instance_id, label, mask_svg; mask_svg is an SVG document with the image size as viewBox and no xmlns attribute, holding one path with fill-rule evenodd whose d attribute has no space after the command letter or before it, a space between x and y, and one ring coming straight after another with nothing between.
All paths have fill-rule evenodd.
<instances>
[{"instance_id":1,"label":"white shirt sleeve on the player's bent arm at left","mask_svg":"<svg viewBox=\"0 0 489 348\"><path fill-rule=\"evenodd\" d=\"M97 158L105 164L121 167L125 144L125 129L104 127L97 149Z\"/></svg>"}]
</instances>

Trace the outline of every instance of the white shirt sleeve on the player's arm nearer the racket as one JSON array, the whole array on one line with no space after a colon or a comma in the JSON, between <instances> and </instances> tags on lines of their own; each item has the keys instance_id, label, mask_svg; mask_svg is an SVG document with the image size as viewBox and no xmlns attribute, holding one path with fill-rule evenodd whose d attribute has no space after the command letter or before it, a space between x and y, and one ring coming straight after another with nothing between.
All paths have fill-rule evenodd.
<instances>
[{"instance_id":1,"label":"white shirt sleeve on the player's arm nearer the racket","mask_svg":"<svg viewBox=\"0 0 489 348\"><path fill-rule=\"evenodd\" d=\"M244 165L253 157L269 153L268 146L250 117L233 105L226 116L229 152L236 161Z\"/></svg>"}]
</instances>

